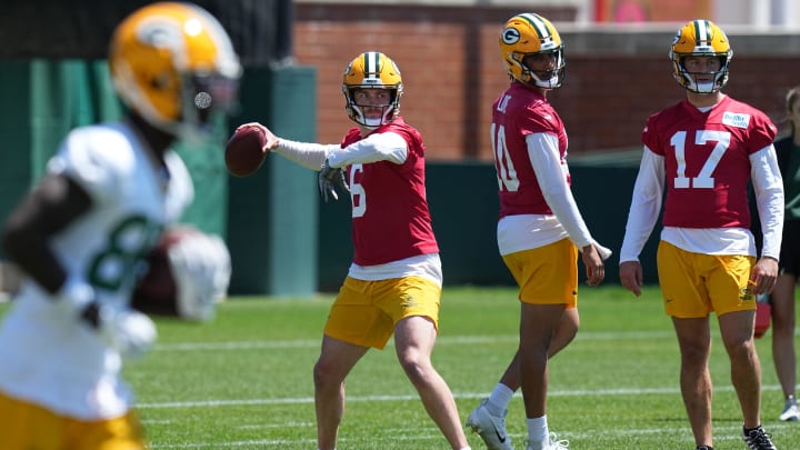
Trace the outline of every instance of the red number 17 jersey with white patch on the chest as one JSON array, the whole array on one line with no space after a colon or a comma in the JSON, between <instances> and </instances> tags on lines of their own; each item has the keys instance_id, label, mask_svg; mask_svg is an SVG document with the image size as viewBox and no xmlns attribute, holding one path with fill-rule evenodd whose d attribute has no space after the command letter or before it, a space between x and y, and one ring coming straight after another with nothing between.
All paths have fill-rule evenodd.
<instances>
[{"instance_id":1,"label":"red number 17 jersey with white patch on the chest","mask_svg":"<svg viewBox=\"0 0 800 450\"><path fill-rule=\"evenodd\" d=\"M664 158L663 224L749 228L749 157L776 132L763 112L730 97L707 112L683 100L652 114L642 142Z\"/></svg>"}]
</instances>

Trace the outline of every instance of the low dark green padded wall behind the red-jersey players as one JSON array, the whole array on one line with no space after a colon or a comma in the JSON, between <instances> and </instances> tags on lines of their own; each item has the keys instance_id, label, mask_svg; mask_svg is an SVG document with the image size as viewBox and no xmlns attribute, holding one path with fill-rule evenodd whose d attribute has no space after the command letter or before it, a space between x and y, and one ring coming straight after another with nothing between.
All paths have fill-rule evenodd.
<instances>
[{"instance_id":1,"label":"low dark green padded wall behind the red-jersey players","mask_svg":"<svg viewBox=\"0 0 800 450\"><path fill-rule=\"evenodd\" d=\"M619 283L622 244L637 167L570 166L572 192L594 239L613 250L606 266L604 283ZM427 164L428 203L441 250L444 284L513 284L497 248L497 178L490 163ZM349 202L320 207L320 277L322 291L334 291L347 274L352 256ZM641 260L644 282L657 283L653 231ZM586 269L579 263L581 282Z\"/></svg>"}]
</instances>

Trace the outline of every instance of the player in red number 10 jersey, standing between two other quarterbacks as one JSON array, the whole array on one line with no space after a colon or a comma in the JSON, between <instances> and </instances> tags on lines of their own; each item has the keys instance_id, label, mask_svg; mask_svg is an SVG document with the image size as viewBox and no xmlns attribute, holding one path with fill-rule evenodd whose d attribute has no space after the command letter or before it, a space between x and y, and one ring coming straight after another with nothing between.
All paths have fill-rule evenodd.
<instances>
[{"instance_id":1,"label":"player in red number 10 jersey, standing between two other quarterbacks","mask_svg":"<svg viewBox=\"0 0 800 450\"><path fill-rule=\"evenodd\" d=\"M541 16L509 19L500 53L511 84L492 106L491 143L500 197L498 247L519 284L520 343L500 382L467 419L490 449L513 449L504 417L522 388L528 449L566 449L547 420L548 359L578 332L578 253L599 284L609 249L594 241L572 192L567 131L547 100L564 77L563 42Z\"/></svg>"}]
</instances>

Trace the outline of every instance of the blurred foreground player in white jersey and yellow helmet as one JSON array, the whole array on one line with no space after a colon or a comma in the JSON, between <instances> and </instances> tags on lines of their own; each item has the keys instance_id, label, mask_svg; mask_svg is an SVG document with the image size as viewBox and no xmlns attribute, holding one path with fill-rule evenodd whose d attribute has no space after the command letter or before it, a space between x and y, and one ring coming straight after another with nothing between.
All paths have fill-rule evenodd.
<instances>
[{"instance_id":1,"label":"blurred foreground player in white jersey and yellow helmet","mask_svg":"<svg viewBox=\"0 0 800 450\"><path fill-rule=\"evenodd\" d=\"M109 63L124 120L72 130L3 228L3 249L26 276L0 328L3 450L147 448L120 371L156 329L131 294L144 258L194 196L170 146L206 132L211 112L234 100L241 69L219 22L190 3L131 13ZM224 270L227 249L214 246L187 258ZM201 287L197 301L218 293Z\"/></svg>"}]
</instances>

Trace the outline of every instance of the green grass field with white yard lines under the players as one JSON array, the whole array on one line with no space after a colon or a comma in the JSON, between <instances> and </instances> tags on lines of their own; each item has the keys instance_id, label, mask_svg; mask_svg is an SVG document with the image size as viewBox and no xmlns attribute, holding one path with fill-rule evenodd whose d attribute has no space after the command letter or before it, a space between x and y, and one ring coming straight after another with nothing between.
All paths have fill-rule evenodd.
<instances>
[{"instance_id":1,"label":"green grass field with white yard lines under the players","mask_svg":"<svg viewBox=\"0 0 800 450\"><path fill-rule=\"evenodd\" d=\"M571 449L693 449L678 389L678 350L659 291L581 288L581 331L550 367L550 428ZM316 449L311 369L332 296L233 298L208 324L159 321L154 351L126 369L153 449ZM462 420L494 386L517 344L511 288L446 288L434 364ZM800 449L800 423L777 420L782 396L768 333L762 420L781 450ZM743 449L728 359L714 331L714 448ZM518 449L522 400L508 417ZM473 449L483 449L468 430ZM390 347L348 379L343 449L448 449Z\"/></svg>"}]
</instances>

